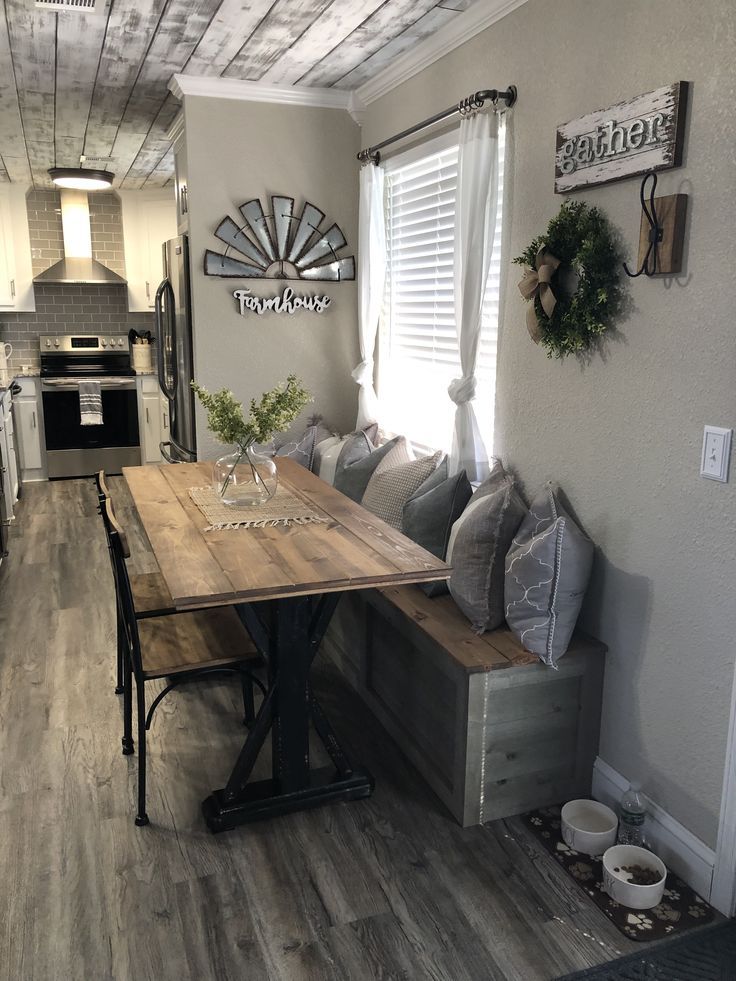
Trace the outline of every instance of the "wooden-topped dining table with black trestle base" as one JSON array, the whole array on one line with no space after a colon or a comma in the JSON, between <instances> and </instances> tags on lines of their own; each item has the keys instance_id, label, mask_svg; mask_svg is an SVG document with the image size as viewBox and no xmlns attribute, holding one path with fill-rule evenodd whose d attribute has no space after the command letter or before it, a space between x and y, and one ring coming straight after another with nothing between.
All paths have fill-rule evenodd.
<instances>
[{"instance_id":1,"label":"wooden-topped dining table with black trestle base","mask_svg":"<svg viewBox=\"0 0 736 981\"><path fill-rule=\"evenodd\" d=\"M450 567L288 458L279 483L320 523L206 531L189 491L211 481L211 463L126 467L141 523L178 610L233 605L264 659L265 694L225 787L203 802L208 827L369 796L314 696L310 669L346 590L446 579ZM236 509L237 510L237 509ZM310 762L310 729L331 765ZM271 733L271 778L250 780Z\"/></svg>"}]
</instances>

